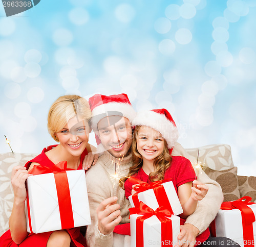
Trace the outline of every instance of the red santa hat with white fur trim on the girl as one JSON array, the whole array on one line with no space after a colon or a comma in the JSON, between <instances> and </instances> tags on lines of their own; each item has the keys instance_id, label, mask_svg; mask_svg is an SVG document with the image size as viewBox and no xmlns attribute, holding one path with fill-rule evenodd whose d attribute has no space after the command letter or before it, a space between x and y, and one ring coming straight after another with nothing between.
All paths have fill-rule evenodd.
<instances>
[{"instance_id":1,"label":"red santa hat with white fur trim on the girl","mask_svg":"<svg viewBox=\"0 0 256 247\"><path fill-rule=\"evenodd\" d=\"M172 149L178 140L179 132L175 121L166 109L138 112L132 121L133 126L147 126L160 132L166 140L168 149Z\"/></svg>"}]
</instances>

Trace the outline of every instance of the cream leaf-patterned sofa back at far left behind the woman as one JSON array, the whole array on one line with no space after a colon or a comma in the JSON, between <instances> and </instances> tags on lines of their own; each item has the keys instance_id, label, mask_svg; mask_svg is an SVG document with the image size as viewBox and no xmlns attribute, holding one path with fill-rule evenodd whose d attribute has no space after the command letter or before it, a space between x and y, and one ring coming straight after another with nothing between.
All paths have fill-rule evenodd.
<instances>
[{"instance_id":1,"label":"cream leaf-patterned sofa back at far left behind the woman","mask_svg":"<svg viewBox=\"0 0 256 247\"><path fill-rule=\"evenodd\" d=\"M13 190L11 185L12 168L25 163L37 154L0 154L0 236L9 229L8 220L12 212Z\"/></svg>"}]
</instances>

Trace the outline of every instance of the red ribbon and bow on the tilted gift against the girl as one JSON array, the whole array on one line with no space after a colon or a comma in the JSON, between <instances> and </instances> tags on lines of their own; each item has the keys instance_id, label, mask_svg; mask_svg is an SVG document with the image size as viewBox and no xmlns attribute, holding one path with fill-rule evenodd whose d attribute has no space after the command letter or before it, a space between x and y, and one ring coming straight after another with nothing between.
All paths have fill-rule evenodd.
<instances>
[{"instance_id":1,"label":"red ribbon and bow on the tilted gift against the girl","mask_svg":"<svg viewBox=\"0 0 256 247\"><path fill-rule=\"evenodd\" d=\"M143 192L145 190L148 190L148 189L153 189L155 195L156 195L156 199L157 199L157 203L158 205L161 207L161 206L164 206L164 207L167 207L168 210L170 210L170 212L172 214L173 213L173 209L172 207L170 206L170 202L169 202L169 199L168 199L168 196L165 192L165 189L163 187L163 183L166 183L166 182L169 182L171 179L165 179L165 180L160 180L160 181L155 181L155 182L152 182L151 184L148 184L146 182L143 182L135 177L130 177L129 179L129 182L131 182L132 184L138 184L136 186L134 186L134 190L137 191L135 194L132 195L132 198L133 198L133 203L134 203L134 206L135 207L139 207L140 205L140 201L139 201L139 198L138 198L138 194L140 192Z\"/></svg>"}]
</instances>

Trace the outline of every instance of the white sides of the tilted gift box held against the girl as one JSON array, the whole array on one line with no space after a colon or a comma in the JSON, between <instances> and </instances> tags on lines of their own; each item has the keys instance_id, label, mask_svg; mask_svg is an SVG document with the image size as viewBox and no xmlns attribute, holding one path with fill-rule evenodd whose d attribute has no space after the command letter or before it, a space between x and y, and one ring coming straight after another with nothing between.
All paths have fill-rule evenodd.
<instances>
[{"instance_id":1,"label":"white sides of the tilted gift box held against the girl","mask_svg":"<svg viewBox=\"0 0 256 247\"><path fill-rule=\"evenodd\" d=\"M183 213L183 209L181 207L173 182L169 181L169 182L162 183L161 185L164 187L164 190L166 192L166 195L168 197L170 206L172 207L174 214L179 215ZM140 202L143 202L153 210L156 210L158 207L162 206L162 205L158 205L156 195L153 189L148 189L148 190L139 192L138 199ZM129 196L129 201L132 207L135 207L133 202L133 195Z\"/></svg>"}]
</instances>

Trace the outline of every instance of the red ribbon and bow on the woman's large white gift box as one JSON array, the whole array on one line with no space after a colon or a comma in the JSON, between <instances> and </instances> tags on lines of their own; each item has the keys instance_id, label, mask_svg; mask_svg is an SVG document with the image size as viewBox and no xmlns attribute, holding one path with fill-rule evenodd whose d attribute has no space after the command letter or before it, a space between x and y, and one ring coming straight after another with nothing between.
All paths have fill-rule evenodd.
<instances>
[{"instance_id":1,"label":"red ribbon and bow on the woman's large white gift box","mask_svg":"<svg viewBox=\"0 0 256 247\"><path fill-rule=\"evenodd\" d=\"M41 166L41 165L35 165L29 171L29 173L33 175L48 174L53 172L56 189L57 189L57 196L58 196L61 229L74 228L74 217L73 217L73 210L72 210L70 190L69 190L69 181L68 181L66 170L74 170L74 169L67 168L67 161L61 161L58 164L53 165L51 168L46 166ZM29 228L30 228L30 231L33 232L31 217L30 217L28 192L27 192L27 205L28 205Z\"/></svg>"}]
</instances>

